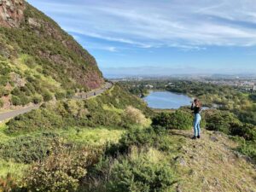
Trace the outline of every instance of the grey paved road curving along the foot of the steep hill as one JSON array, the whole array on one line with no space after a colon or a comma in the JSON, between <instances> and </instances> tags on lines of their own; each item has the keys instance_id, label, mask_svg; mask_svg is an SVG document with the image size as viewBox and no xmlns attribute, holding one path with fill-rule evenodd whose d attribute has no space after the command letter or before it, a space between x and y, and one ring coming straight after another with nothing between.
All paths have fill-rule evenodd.
<instances>
[{"instance_id":1,"label":"grey paved road curving along the foot of the steep hill","mask_svg":"<svg viewBox=\"0 0 256 192\"><path fill-rule=\"evenodd\" d=\"M109 90L112 86L113 86L112 83L107 82L106 84L104 84L104 86L102 86L102 88L97 90L91 90L90 92L86 92L86 93L80 93L79 96L73 96L73 99L79 99L79 100L89 99L92 96L98 96L102 94L104 91ZM11 112L0 113L0 122L5 119L14 118L19 114L30 112L32 111L32 109L38 109L39 107L40 107L39 105L35 105L29 108L20 108Z\"/></svg>"}]
</instances>

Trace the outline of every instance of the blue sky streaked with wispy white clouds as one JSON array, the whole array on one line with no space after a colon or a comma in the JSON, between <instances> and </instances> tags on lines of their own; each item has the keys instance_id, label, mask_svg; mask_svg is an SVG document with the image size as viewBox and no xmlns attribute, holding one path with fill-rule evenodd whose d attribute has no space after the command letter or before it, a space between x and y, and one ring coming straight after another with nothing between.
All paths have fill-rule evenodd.
<instances>
[{"instance_id":1,"label":"blue sky streaked with wispy white clouds","mask_svg":"<svg viewBox=\"0 0 256 192\"><path fill-rule=\"evenodd\" d=\"M110 73L256 73L255 0L28 0Z\"/></svg>"}]
</instances>

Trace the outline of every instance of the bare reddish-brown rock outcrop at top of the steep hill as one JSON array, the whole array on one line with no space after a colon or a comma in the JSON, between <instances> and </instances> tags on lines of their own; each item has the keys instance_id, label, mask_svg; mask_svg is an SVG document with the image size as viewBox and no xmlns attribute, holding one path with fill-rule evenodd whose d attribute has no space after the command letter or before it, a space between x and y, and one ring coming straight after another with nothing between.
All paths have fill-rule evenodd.
<instances>
[{"instance_id":1,"label":"bare reddish-brown rock outcrop at top of the steep hill","mask_svg":"<svg viewBox=\"0 0 256 192\"><path fill-rule=\"evenodd\" d=\"M0 0L0 25L18 27L23 20L25 3L23 0Z\"/></svg>"}]
</instances>

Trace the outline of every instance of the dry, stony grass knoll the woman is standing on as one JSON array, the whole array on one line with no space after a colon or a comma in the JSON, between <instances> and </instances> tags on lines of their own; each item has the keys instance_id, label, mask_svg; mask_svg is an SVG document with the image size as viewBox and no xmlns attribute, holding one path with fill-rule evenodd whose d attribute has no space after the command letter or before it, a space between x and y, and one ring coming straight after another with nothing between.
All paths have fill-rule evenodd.
<instances>
[{"instance_id":1,"label":"dry, stony grass knoll the woman is standing on","mask_svg":"<svg viewBox=\"0 0 256 192\"><path fill-rule=\"evenodd\" d=\"M180 191L254 191L255 166L234 153L237 143L222 133L203 131L200 140L191 140L189 131L172 131L173 139L183 138L175 157L182 175Z\"/></svg>"}]
</instances>

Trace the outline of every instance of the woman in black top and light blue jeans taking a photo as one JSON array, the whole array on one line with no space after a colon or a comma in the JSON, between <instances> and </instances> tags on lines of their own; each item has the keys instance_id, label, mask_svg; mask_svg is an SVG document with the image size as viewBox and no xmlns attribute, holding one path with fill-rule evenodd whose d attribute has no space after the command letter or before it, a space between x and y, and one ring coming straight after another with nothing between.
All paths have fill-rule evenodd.
<instances>
[{"instance_id":1,"label":"woman in black top and light blue jeans taking a photo","mask_svg":"<svg viewBox=\"0 0 256 192\"><path fill-rule=\"evenodd\" d=\"M194 102L192 102L191 110L193 110L195 114L194 119L194 137L192 139L200 138L200 121L201 121L201 102L198 99L195 99Z\"/></svg>"}]
</instances>

